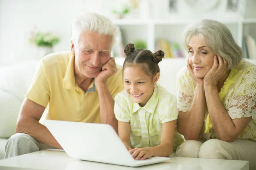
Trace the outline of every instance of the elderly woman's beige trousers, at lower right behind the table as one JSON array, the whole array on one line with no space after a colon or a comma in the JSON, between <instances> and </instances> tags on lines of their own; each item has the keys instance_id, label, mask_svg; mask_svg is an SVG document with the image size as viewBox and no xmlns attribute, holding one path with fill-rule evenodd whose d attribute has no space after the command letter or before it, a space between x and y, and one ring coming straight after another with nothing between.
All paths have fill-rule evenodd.
<instances>
[{"instance_id":1,"label":"elderly woman's beige trousers, at lower right behind the table","mask_svg":"<svg viewBox=\"0 0 256 170\"><path fill-rule=\"evenodd\" d=\"M256 141L236 139L233 142L210 139L184 141L176 150L177 157L230 159L249 161L250 170L256 169Z\"/></svg>"}]
</instances>

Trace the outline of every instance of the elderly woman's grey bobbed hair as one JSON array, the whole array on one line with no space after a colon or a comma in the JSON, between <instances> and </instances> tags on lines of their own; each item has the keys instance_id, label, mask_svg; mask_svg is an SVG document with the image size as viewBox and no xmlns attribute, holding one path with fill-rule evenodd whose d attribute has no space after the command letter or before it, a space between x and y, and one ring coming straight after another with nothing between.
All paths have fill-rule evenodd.
<instances>
[{"instance_id":1,"label":"elderly woman's grey bobbed hair","mask_svg":"<svg viewBox=\"0 0 256 170\"><path fill-rule=\"evenodd\" d=\"M228 69L235 68L243 57L242 49L237 45L230 30L215 20L204 19L190 24L183 32L183 45L187 49L192 35L200 37L209 49L227 60Z\"/></svg>"}]
</instances>

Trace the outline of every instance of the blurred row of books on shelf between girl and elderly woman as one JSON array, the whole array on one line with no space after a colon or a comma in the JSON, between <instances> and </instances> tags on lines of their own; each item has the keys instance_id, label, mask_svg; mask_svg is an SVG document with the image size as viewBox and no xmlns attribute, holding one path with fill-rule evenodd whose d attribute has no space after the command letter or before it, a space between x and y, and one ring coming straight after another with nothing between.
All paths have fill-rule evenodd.
<instances>
[{"instance_id":1,"label":"blurred row of books on shelf between girl and elderly woman","mask_svg":"<svg viewBox=\"0 0 256 170\"><path fill-rule=\"evenodd\" d=\"M162 50L165 58L183 58L180 45L176 42L169 42L163 38L157 39L155 43L155 51Z\"/></svg>"}]
</instances>

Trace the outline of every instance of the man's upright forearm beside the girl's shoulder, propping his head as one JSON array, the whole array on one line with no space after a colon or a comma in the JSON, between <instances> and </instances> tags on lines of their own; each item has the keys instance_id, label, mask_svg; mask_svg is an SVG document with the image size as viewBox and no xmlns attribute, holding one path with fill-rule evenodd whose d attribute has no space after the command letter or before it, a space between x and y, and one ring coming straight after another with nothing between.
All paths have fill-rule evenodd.
<instances>
[{"instance_id":1,"label":"man's upright forearm beside the girl's shoulder, propping his head","mask_svg":"<svg viewBox=\"0 0 256 170\"><path fill-rule=\"evenodd\" d=\"M108 89L107 84L98 84L97 90L99 93L99 108L100 108L100 118L101 122L104 124L111 125L116 133L117 130L117 120L114 114L114 99Z\"/></svg>"}]
</instances>

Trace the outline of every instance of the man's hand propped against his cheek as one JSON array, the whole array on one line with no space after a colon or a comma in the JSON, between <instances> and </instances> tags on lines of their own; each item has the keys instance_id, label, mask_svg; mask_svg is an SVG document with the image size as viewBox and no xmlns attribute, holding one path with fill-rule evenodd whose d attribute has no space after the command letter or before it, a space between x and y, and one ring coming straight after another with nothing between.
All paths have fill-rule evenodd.
<instances>
[{"instance_id":1,"label":"man's hand propped against his cheek","mask_svg":"<svg viewBox=\"0 0 256 170\"><path fill-rule=\"evenodd\" d=\"M95 78L95 84L104 83L117 71L116 62L113 57L111 57L107 63L102 66L102 71Z\"/></svg>"}]
</instances>

